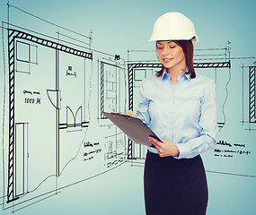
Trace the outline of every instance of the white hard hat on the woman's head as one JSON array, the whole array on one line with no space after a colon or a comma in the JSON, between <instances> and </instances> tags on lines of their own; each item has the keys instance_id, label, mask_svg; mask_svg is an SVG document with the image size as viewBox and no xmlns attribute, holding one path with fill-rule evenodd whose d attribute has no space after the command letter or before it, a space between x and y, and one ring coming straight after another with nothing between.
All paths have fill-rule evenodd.
<instances>
[{"instance_id":1,"label":"white hard hat on the woman's head","mask_svg":"<svg viewBox=\"0 0 256 215\"><path fill-rule=\"evenodd\" d=\"M154 23L153 35L149 41L189 40L199 41L193 23L182 13L164 13Z\"/></svg>"}]
</instances>

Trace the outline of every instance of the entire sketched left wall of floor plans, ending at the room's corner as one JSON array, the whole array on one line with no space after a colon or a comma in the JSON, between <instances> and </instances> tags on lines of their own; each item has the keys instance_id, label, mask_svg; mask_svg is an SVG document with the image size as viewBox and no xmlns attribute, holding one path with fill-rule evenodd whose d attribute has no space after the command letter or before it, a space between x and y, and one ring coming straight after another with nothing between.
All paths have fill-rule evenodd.
<instances>
[{"instance_id":1,"label":"entire sketched left wall of floor plans, ending at the room's corner","mask_svg":"<svg viewBox=\"0 0 256 215\"><path fill-rule=\"evenodd\" d=\"M125 64L59 37L5 32L9 138L1 197L4 209L16 211L124 163L124 134L101 113L125 111Z\"/></svg>"}]
</instances>

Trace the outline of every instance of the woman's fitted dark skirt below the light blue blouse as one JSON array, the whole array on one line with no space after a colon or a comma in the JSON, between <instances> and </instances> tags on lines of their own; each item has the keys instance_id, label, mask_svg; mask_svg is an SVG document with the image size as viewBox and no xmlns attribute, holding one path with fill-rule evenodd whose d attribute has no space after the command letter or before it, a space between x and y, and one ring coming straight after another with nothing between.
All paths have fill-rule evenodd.
<instances>
[{"instance_id":1,"label":"woman's fitted dark skirt below the light blue blouse","mask_svg":"<svg viewBox=\"0 0 256 215\"><path fill-rule=\"evenodd\" d=\"M147 151L144 193L146 215L205 215L207 177L201 157L161 158Z\"/></svg>"}]
</instances>

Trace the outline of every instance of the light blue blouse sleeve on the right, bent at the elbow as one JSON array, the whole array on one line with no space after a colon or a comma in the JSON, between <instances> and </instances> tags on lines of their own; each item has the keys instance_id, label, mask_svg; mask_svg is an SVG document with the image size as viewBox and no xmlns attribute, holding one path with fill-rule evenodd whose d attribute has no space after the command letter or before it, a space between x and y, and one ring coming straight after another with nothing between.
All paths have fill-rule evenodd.
<instances>
[{"instance_id":1,"label":"light blue blouse sleeve on the right, bent at the elbow","mask_svg":"<svg viewBox=\"0 0 256 215\"><path fill-rule=\"evenodd\" d=\"M200 153L214 149L217 134L216 83L209 82L205 95L201 100L199 126L200 134L188 142L176 144L180 155L174 158L194 158Z\"/></svg>"}]
</instances>

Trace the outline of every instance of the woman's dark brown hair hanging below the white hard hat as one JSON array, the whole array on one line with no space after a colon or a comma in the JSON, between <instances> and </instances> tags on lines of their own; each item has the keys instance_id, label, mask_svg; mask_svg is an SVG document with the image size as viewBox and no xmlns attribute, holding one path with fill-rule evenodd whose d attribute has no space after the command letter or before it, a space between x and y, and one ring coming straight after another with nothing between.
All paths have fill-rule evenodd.
<instances>
[{"instance_id":1,"label":"woman's dark brown hair hanging below the white hard hat","mask_svg":"<svg viewBox=\"0 0 256 215\"><path fill-rule=\"evenodd\" d=\"M193 65L193 56L194 56L194 47L192 40L172 40L172 42L176 43L178 46L180 46L186 56L186 64L189 68L189 71L186 73L190 73L190 78L195 78L196 73ZM156 43L155 43L156 44ZM160 77L163 75L164 66L162 64L162 69L156 73L157 77Z\"/></svg>"}]
</instances>

